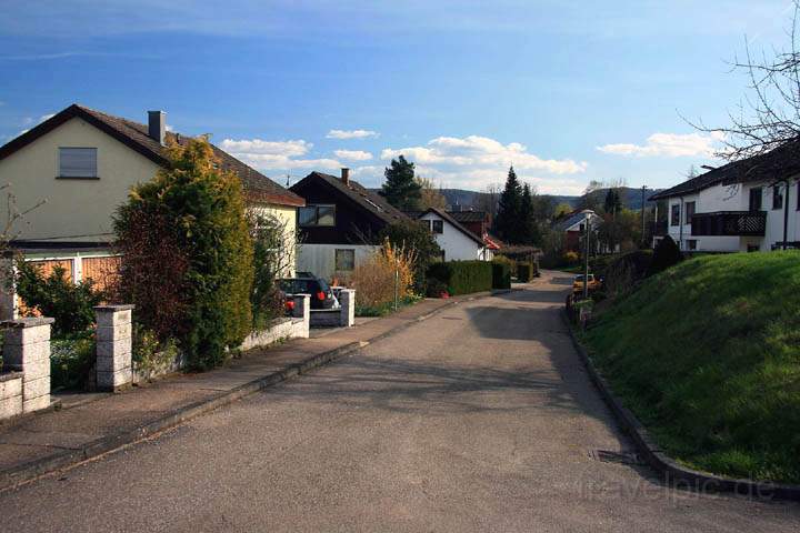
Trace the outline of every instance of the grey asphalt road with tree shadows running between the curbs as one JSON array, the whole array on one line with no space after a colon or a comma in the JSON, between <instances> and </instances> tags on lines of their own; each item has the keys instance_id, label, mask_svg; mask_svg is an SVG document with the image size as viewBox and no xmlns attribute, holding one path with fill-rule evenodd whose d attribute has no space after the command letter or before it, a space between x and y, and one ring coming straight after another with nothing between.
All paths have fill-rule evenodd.
<instances>
[{"instance_id":1,"label":"grey asphalt road with tree shadows running between the curbs","mask_svg":"<svg viewBox=\"0 0 800 533\"><path fill-rule=\"evenodd\" d=\"M152 441L0 495L0 531L800 531L800 506L663 486L558 309L459 304Z\"/></svg>"}]
</instances>

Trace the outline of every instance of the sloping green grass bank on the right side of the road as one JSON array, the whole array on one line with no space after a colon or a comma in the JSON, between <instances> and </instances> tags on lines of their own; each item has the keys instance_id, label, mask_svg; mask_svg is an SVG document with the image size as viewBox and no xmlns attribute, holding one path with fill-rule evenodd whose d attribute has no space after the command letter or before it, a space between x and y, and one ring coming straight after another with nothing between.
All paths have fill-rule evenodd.
<instances>
[{"instance_id":1,"label":"sloping green grass bank on the right side of the road","mask_svg":"<svg viewBox=\"0 0 800 533\"><path fill-rule=\"evenodd\" d=\"M607 309L582 340L674 459L800 483L800 252L686 261Z\"/></svg>"}]
</instances>

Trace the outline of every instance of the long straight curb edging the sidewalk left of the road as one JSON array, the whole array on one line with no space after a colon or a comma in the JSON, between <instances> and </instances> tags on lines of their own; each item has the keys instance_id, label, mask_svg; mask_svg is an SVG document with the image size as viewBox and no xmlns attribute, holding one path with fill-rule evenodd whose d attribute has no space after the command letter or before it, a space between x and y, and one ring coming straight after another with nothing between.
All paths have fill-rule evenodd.
<instances>
[{"instance_id":1,"label":"long straight curb edging the sidewalk left of the road","mask_svg":"<svg viewBox=\"0 0 800 533\"><path fill-rule=\"evenodd\" d=\"M491 294L481 294L478 296L466 298L463 300L453 300L443 304L442 306L434 309L433 311L410 319L408 322L402 323L396 328L392 328L383 333L380 333L368 341L357 341L343 346L339 346L327 352L311 355L310 358L288 365L287 368L267 374L262 378L258 378L253 381L237 386L236 389L222 392L208 400L200 400L191 403L183 408L180 408L169 414L166 414L159 419L148 422L144 425L140 425L132 430L127 430L121 433L113 435L101 436L94 441L91 441L82 446L74 450L63 450L46 457L33 460L29 463L13 466L0 472L0 493L8 490L14 489L21 484L33 481L37 477L52 473L58 470L77 466L80 463L97 459L100 455L120 450L122 447L136 444L137 442L149 439L158 433L178 426L191 419L200 416L201 414L209 413L219 408L233 403L238 400L254 394L259 391L269 389L270 386L277 385L284 381L288 381L294 376L308 373L311 370L324 366L328 363L342 359L353 352L361 350L362 348L378 342L382 339L391 336L396 333L407 330L408 328L422 322L423 320L430 319L436 314L457 305L461 301L472 301L481 298L488 298Z\"/></svg>"}]
</instances>

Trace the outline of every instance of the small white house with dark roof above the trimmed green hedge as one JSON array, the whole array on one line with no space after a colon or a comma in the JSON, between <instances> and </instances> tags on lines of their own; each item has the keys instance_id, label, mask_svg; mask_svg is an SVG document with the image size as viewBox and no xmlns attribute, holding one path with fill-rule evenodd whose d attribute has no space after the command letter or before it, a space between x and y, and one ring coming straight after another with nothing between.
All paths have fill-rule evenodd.
<instances>
[{"instance_id":1,"label":"small white house with dark roof above the trimmed green hedge","mask_svg":"<svg viewBox=\"0 0 800 533\"><path fill-rule=\"evenodd\" d=\"M481 232L478 234L459 222L456 215L438 208L410 213L433 233L437 244L442 249L443 261L491 261L497 245L487 240L484 228L472 224ZM473 220L477 218L472 217Z\"/></svg>"}]
</instances>

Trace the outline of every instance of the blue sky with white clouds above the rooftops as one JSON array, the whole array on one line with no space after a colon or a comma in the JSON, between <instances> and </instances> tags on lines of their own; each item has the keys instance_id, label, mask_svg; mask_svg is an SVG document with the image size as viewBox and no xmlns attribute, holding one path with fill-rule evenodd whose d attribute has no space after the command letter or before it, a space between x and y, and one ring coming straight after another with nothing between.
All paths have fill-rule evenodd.
<instances>
[{"instance_id":1,"label":"blue sky with white clouds above the rooftops","mask_svg":"<svg viewBox=\"0 0 800 533\"><path fill-rule=\"evenodd\" d=\"M788 46L790 0L0 0L0 144L71 103L211 141L286 184L439 187L509 165L541 193L666 188L718 164L731 61Z\"/></svg>"}]
</instances>

